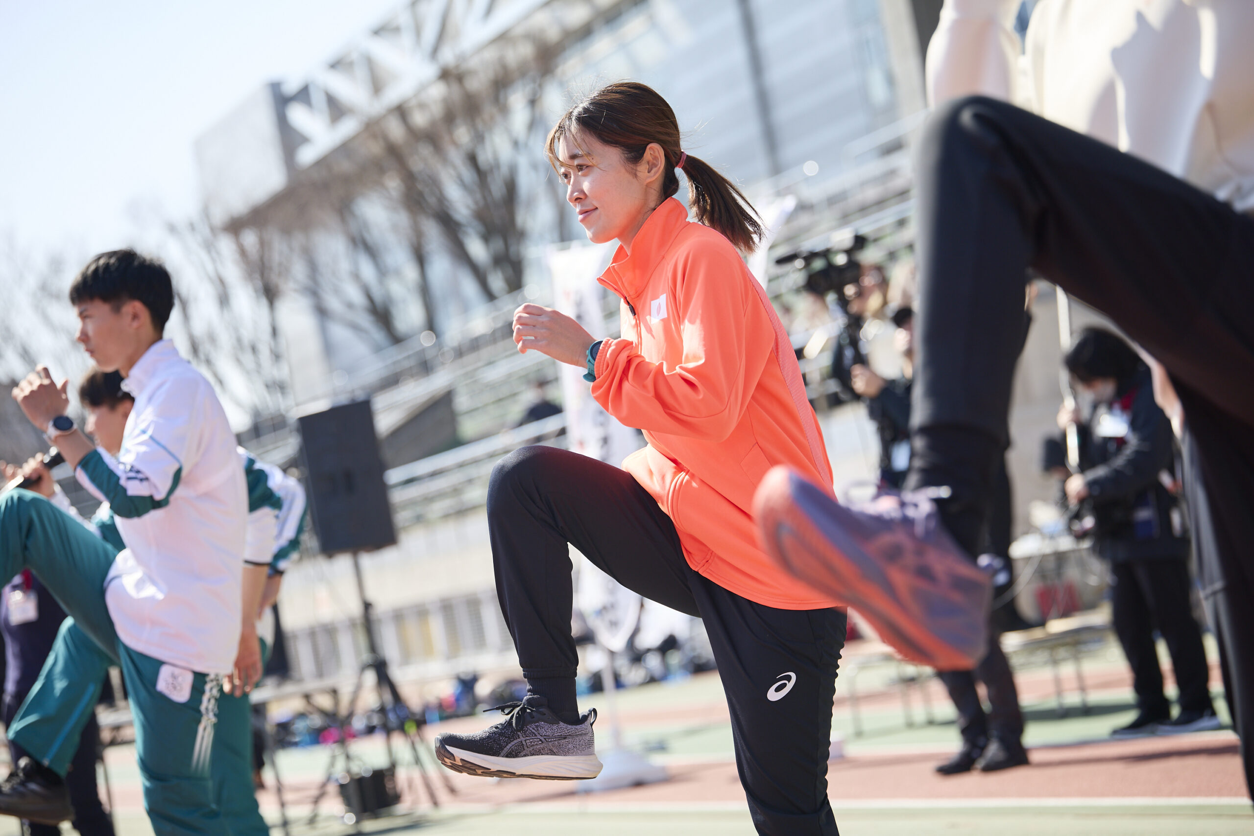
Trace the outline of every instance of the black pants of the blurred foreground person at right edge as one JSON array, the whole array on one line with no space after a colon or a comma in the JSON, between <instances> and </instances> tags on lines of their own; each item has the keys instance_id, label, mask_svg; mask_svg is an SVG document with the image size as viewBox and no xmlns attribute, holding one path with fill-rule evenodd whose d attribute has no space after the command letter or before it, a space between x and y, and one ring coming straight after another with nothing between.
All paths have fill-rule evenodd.
<instances>
[{"instance_id":1,"label":"black pants of the blurred foreground person at right edge","mask_svg":"<svg viewBox=\"0 0 1254 836\"><path fill-rule=\"evenodd\" d=\"M986 98L932 117L917 196L907 485L951 486L942 518L974 553L1008 441L1025 272L1057 282L1171 375L1194 437L1190 473L1209 499L1203 534L1224 574L1233 691L1254 701L1245 662L1254 658L1254 219L1130 154ZM1234 713L1254 717L1241 706Z\"/></svg>"}]
</instances>

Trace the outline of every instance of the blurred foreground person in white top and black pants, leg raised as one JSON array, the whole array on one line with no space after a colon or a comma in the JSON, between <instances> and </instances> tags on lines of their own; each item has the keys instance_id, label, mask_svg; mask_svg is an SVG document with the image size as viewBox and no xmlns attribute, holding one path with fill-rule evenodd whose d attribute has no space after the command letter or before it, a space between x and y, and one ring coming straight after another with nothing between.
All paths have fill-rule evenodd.
<instances>
[{"instance_id":1,"label":"blurred foreground person in white top and black pants, leg raised","mask_svg":"<svg viewBox=\"0 0 1254 836\"><path fill-rule=\"evenodd\" d=\"M928 49L937 112L918 159L907 488L929 489L943 528L976 554L1008 444L1026 271L1110 316L1161 363L1183 407L1176 425L1209 500L1195 520L1211 565L1203 577L1216 593L1243 732L1254 723L1254 3L1043 0L1022 58L1011 31L1018 6L947 0ZM927 539L910 520L923 505L907 496L905 514L836 508L813 501L795 476L772 484L796 500L794 528L804 516L828 530L823 560L796 574L820 588L864 578L846 582L844 599L883 605L877 575L892 574L903 543ZM772 551L803 565L779 519L762 525ZM867 562L885 572L868 573ZM934 640L944 629L902 589L889 620ZM1191 719L1178 718L1184 728ZM1243 758L1249 777L1254 737Z\"/></svg>"}]
</instances>

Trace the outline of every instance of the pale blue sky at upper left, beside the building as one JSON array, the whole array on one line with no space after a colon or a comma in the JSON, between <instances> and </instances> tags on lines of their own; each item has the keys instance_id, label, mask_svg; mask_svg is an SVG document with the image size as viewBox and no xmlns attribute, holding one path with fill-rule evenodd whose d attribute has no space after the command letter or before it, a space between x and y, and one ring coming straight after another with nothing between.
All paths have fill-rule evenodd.
<instances>
[{"instance_id":1,"label":"pale blue sky at upper left, beside the building","mask_svg":"<svg viewBox=\"0 0 1254 836\"><path fill-rule=\"evenodd\" d=\"M0 0L0 236L76 254L198 199L192 143L398 0Z\"/></svg>"}]
</instances>

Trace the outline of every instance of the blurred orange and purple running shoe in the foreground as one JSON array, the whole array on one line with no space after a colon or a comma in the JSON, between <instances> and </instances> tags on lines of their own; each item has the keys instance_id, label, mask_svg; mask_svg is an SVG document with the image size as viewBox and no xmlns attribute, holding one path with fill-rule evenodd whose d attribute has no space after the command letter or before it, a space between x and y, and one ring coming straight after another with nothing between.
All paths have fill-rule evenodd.
<instances>
[{"instance_id":1,"label":"blurred orange and purple running shoe in the foreground","mask_svg":"<svg viewBox=\"0 0 1254 836\"><path fill-rule=\"evenodd\" d=\"M841 505L779 465L757 486L754 516L780 568L856 609L905 658L938 671L983 658L992 579L922 491Z\"/></svg>"}]
</instances>

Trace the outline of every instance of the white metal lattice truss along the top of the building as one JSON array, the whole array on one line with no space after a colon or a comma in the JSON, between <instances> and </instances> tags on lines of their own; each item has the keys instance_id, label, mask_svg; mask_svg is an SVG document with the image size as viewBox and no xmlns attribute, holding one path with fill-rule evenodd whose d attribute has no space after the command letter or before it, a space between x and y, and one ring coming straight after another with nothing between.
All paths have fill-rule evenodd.
<instances>
[{"instance_id":1,"label":"white metal lattice truss along the top of the building","mask_svg":"<svg viewBox=\"0 0 1254 836\"><path fill-rule=\"evenodd\" d=\"M298 134L292 162L296 168L314 165L371 119L419 95L444 69L472 59L537 13L547 13L548 36L562 36L619 3L404 0L345 53L282 86L283 115Z\"/></svg>"}]
</instances>

